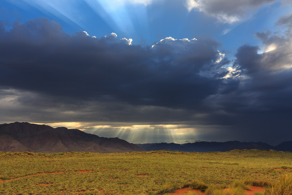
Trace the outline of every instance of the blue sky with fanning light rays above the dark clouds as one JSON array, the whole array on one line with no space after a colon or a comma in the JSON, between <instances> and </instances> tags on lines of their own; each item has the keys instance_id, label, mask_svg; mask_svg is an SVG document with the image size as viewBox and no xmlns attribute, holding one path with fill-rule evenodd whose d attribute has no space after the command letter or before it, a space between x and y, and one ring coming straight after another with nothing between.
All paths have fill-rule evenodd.
<instances>
[{"instance_id":1,"label":"blue sky with fanning light rays above the dark clouds","mask_svg":"<svg viewBox=\"0 0 292 195\"><path fill-rule=\"evenodd\" d=\"M4 0L1 1L1 8L2 18L9 19L10 23L20 18L25 22L44 17L56 20L68 34L86 31L90 36L102 37L114 32L118 38L131 38L133 44L143 45L150 45L166 37L213 37L222 44L222 50L233 54L243 44L258 45L259 40L254 37L254 33L267 29L276 31L274 24L279 16L292 10L281 1L272 1L246 8L240 20L228 22L219 21L196 8L188 10L186 4L185 1L177 0Z\"/></svg>"}]
</instances>

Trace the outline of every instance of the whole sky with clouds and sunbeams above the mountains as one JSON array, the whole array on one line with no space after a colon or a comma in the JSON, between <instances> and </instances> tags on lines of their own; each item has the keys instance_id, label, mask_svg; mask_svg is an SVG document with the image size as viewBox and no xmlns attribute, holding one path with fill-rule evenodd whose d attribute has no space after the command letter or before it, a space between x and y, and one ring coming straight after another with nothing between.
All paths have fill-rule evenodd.
<instances>
[{"instance_id":1,"label":"whole sky with clouds and sunbeams above the mountains","mask_svg":"<svg viewBox=\"0 0 292 195\"><path fill-rule=\"evenodd\" d=\"M2 0L0 123L131 143L292 140L291 0Z\"/></svg>"}]
</instances>

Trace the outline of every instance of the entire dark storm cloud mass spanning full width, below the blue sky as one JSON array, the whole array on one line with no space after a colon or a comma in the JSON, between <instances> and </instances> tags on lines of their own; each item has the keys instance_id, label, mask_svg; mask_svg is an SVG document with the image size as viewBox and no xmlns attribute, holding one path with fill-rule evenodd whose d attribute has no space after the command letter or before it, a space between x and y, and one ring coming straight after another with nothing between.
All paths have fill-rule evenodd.
<instances>
[{"instance_id":1,"label":"entire dark storm cloud mass spanning full width, below the blue sky","mask_svg":"<svg viewBox=\"0 0 292 195\"><path fill-rule=\"evenodd\" d=\"M277 22L283 34L256 33L264 47L240 46L233 61L211 39L151 47L115 34L69 35L43 18L10 30L1 23L0 118L201 125L194 139L285 141L274 132L292 136L289 17Z\"/></svg>"}]
</instances>

